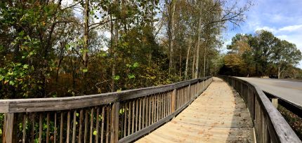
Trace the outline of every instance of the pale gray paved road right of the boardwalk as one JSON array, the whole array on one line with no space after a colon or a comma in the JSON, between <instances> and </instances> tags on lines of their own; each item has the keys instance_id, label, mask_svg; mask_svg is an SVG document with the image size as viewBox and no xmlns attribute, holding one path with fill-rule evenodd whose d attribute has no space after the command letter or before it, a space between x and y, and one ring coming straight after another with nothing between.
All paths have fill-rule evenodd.
<instances>
[{"instance_id":1,"label":"pale gray paved road right of the boardwalk","mask_svg":"<svg viewBox=\"0 0 302 143\"><path fill-rule=\"evenodd\" d=\"M243 77L237 78L254 83L265 92L282 97L285 100L289 100L290 102L302 106L302 81Z\"/></svg>"}]
</instances>

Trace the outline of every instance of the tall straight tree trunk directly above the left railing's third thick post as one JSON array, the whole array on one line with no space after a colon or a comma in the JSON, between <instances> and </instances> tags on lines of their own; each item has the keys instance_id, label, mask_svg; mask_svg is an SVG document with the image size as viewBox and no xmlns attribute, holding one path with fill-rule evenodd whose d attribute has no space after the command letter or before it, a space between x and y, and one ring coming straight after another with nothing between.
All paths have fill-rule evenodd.
<instances>
[{"instance_id":1,"label":"tall straight tree trunk directly above the left railing's third thick post","mask_svg":"<svg viewBox=\"0 0 302 143\"><path fill-rule=\"evenodd\" d=\"M171 1L171 10L170 10L170 27L169 30L170 30L170 34L171 36L169 36L169 48L170 48L170 58L169 58L169 74L171 74L171 72L173 72L173 70L175 69L174 68L174 63L173 63L173 56L174 56L174 39L175 39L175 21L174 21L174 14L175 14L175 8L176 8L176 2L175 0L172 0Z\"/></svg>"}]
</instances>

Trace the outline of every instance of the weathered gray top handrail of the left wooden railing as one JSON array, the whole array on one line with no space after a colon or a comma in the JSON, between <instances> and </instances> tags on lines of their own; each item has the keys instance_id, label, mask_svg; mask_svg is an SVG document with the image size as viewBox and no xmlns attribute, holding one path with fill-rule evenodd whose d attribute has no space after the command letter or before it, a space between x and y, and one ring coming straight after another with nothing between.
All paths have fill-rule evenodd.
<instances>
[{"instance_id":1,"label":"weathered gray top handrail of the left wooden railing","mask_svg":"<svg viewBox=\"0 0 302 143\"><path fill-rule=\"evenodd\" d=\"M206 77L204 79L207 79ZM98 95L84 95L78 97L52 97L52 98L34 98L18 100L0 100L0 113L15 112L34 112L34 111L59 111L67 109L79 109L84 107L94 107L100 104L108 104L116 101L125 101L161 93L175 88L188 86L190 83L196 83L199 80L182 81L165 86L156 86L150 88L139 88L135 90L125 90L118 93L103 93Z\"/></svg>"}]
</instances>

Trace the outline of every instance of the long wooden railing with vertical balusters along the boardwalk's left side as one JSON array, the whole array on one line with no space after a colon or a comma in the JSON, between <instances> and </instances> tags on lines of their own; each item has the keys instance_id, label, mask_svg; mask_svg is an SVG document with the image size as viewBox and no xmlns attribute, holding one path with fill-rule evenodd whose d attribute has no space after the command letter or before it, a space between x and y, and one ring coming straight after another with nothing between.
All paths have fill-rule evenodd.
<instances>
[{"instance_id":1,"label":"long wooden railing with vertical balusters along the boardwalk's left side","mask_svg":"<svg viewBox=\"0 0 302 143\"><path fill-rule=\"evenodd\" d=\"M171 120L211 80L79 97L0 100L0 142L132 142Z\"/></svg>"}]
</instances>

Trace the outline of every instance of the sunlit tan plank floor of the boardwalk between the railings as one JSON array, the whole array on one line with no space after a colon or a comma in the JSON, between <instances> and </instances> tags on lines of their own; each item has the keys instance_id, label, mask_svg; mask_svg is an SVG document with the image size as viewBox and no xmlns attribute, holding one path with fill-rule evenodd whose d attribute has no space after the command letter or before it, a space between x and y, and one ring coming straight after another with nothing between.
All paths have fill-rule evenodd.
<instances>
[{"instance_id":1,"label":"sunlit tan plank floor of the boardwalk between the railings","mask_svg":"<svg viewBox=\"0 0 302 143\"><path fill-rule=\"evenodd\" d=\"M137 142L254 142L254 128L242 98L214 78L176 118Z\"/></svg>"}]
</instances>

